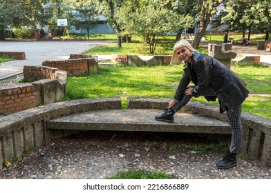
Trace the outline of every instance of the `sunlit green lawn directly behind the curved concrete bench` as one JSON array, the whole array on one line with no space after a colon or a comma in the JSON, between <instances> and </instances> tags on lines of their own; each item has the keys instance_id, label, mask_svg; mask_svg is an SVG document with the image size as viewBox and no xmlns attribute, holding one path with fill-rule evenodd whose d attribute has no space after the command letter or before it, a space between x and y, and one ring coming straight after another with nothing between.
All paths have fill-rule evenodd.
<instances>
[{"instance_id":1,"label":"sunlit green lawn directly behind the curved concrete bench","mask_svg":"<svg viewBox=\"0 0 271 193\"><path fill-rule=\"evenodd\" d=\"M271 119L271 68L232 66L250 90L243 111ZM68 77L68 99L120 96L122 108L127 96L147 96L172 99L183 74L183 64L155 67L100 66L97 74ZM203 96L192 101L207 103ZM218 105L218 102L211 102Z\"/></svg>"}]
</instances>

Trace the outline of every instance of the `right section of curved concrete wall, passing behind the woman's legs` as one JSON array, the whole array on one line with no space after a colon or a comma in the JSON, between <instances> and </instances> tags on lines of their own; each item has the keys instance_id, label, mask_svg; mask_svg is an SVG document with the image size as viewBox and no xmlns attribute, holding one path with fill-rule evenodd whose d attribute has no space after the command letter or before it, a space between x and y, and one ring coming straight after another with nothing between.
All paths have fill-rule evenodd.
<instances>
[{"instance_id":1,"label":"right section of curved concrete wall, passing behind the woman's legs","mask_svg":"<svg viewBox=\"0 0 271 193\"><path fill-rule=\"evenodd\" d=\"M128 108L158 108L165 109L169 99L153 99L145 97L129 97ZM180 112L199 114L213 119L227 121L225 113L221 114L218 107L203 103L188 103ZM271 166L271 120L242 112L243 125L243 154L261 161L261 164Z\"/></svg>"}]
</instances>

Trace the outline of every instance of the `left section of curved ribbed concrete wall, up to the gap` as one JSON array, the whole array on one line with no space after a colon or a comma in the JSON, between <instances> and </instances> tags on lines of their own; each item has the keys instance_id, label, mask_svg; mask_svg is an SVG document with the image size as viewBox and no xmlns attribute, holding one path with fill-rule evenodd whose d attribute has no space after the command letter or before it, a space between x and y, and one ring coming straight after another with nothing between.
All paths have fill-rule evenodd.
<instances>
[{"instance_id":1,"label":"left section of curved ribbed concrete wall, up to the gap","mask_svg":"<svg viewBox=\"0 0 271 193\"><path fill-rule=\"evenodd\" d=\"M46 121L68 114L121 107L120 97L81 99L51 103L0 118L0 168L26 150L78 132L46 130Z\"/></svg>"}]
</instances>

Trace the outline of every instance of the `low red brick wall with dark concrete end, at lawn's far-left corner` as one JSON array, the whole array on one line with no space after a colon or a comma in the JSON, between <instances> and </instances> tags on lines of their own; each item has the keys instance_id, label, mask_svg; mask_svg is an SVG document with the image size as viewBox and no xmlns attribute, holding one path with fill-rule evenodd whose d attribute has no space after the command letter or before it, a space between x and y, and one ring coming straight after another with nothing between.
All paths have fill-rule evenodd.
<instances>
[{"instance_id":1,"label":"low red brick wall with dark concrete end, at lawn's far-left corner","mask_svg":"<svg viewBox=\"0 0 271 193\"><path fill-rule=\"evenodd\" d=\"M98 63L95 59L68 59L43 61L42 66L65 70L68 74L78 75L90 72L98 72Z\"/></svg>"}]
</instances>

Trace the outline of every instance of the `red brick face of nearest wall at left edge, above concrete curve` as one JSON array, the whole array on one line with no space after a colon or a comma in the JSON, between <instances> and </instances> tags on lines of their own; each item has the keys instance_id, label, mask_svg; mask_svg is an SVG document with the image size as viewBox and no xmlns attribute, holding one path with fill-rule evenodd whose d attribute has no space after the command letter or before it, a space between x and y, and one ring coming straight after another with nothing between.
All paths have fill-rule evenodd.
<instances>
[{"instance_id":1,"label":"red brick face of nearest wall at left edge, above concrete curve","mask_svg":"<svg viewBox=\"0 0 271 193\"><path fill-rule=\"evenodd\" d=\"M39 93L30 83L0 87L0 114L34 108L38 101Z\"/></svg>"}]
</instances>

